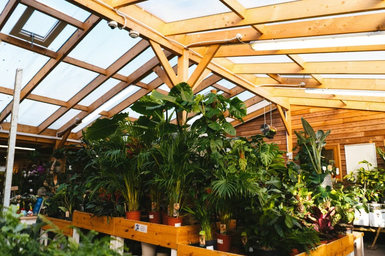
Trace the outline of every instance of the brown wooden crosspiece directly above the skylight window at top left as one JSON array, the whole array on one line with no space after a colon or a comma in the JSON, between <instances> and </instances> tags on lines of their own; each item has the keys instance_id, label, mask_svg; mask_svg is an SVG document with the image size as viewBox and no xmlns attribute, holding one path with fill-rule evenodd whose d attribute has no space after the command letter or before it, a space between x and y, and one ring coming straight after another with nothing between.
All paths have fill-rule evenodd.
<instances>
[{"instance_id":1,"label":"brown wooden crosspiece directly above the skylight window at top left","mask_svg":"<svg viewBox=\"0 0 385 256\"><path fill-rule=\"evenodd\" d=\"M84 29L83 22L81 22L75 18L72 18L71 16L68 16L62 12L59 12L58 10L51 8L45 4L42 4L41 2L38 2L36 0L21 0L20 3L30 7L32 9L38 10L39 12L42 12L42 13L44 13L48 16L51 16L51 17L53 17L59 21L62 21L66 24L74 26L77 29L81 29L81 30Z\"/></svg>"}]
</instances>

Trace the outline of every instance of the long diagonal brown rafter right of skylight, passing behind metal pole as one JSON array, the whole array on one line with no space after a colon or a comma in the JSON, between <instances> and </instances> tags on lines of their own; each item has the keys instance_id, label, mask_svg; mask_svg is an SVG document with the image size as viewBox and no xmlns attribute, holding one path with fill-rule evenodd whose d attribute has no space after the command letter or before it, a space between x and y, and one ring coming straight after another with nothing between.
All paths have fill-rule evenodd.
<instances>
[{"instance_id":1,"label":"long diagonal brown rafter right of skylight, passing behind metal pole","mask_svg":"<svg viewBox=\"0 0 385 256\"><path fill-rule=\"evenodd\" d=\"M25 100L28 95L36 88L45 77L47 77L65 58L67 54L69 54L79 43L80 41L88 35L91 29L96 26L101 19L94 15L91 15L88 20L85 22L84 30L78 29L64 45L59 49L58 56L56 59L50 59L37 74L28 82L28 84L21 91L20 102ZM1 112L0 122L4 121L5 118L12 111L11 102L5 107L5 109Z\"/></svg>"}]
</instances>

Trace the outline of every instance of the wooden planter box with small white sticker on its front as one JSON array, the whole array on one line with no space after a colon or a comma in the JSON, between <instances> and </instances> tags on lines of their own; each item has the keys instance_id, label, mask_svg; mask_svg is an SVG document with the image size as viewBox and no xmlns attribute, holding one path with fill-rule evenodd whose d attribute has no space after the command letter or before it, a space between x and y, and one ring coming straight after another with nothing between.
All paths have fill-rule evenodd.
<instances>
[{"instance_id":1,"label":"wooden planter box with small white sticker on its front","mask_svg":"<svg viewBox=\"0 0 385 256\"><path fill-rule=\"evenodd\" d=\"M149 244L177 249L178 244L199 242L200 225L172 227L148 222L132 221L114 218L115 229L113 235ZM143 225L147 233L136 231L135 224Z\"/></svg>"}]
</instances>

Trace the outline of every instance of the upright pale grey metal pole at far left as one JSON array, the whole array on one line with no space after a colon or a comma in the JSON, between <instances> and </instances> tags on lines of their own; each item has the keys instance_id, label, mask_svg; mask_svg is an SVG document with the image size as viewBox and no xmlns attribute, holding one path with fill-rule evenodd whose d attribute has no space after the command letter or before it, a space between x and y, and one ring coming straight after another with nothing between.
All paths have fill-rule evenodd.
<instances>
[{"instance_id":1,"label":"upright pale grey metal pole at far left","mask_svg":"<svg viewBox=\"0 0 385 256\"><path fill-rule=\"evenodd\" d=\"M9 206L9 200L11 198L12 172L13 172L13 161L15 157L17 119L19 117L19 103L20 103L22 76L23 76L23 70L17 69L16 78L15 78L15 90L13 94L13 103L12 103L11 128L9 129L7 162L5 164L5 180L4 180L4 193L3 193L4 208Z\"/></svg>"}]
</instances>

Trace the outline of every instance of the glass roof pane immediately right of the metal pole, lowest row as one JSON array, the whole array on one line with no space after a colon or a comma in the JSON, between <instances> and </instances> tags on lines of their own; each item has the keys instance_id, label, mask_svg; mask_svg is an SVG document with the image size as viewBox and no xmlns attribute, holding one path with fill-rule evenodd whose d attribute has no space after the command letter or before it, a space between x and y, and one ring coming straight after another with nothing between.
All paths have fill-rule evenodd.
<instances>
[{"instance_id":1,"label":"glass roof pane immediately right of the metal pole, lowest row","mask_svg":"<svg viewBox=\"0 0 385 256\"><path fill-rule=\"evenodd\" d=\"M20 103L18 123L28 126L39 126L55 113L59 107L26 99Z\"/></svg>"}]
</instances>

